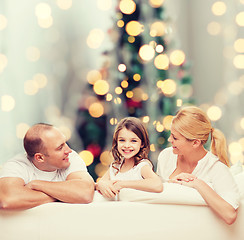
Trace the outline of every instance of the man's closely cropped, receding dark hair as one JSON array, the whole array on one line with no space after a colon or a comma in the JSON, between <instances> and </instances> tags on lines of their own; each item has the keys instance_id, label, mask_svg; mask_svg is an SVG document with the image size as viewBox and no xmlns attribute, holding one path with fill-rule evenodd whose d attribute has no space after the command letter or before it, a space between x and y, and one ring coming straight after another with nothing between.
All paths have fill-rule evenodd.
<instances>
[{"instance_id":1,"label":"man's closely cropped, receding dark hair","mask_svg":"<svg viewBox=\"0 0 244 240\"><path fill-rule=\"evenodd\" d=\"M52 128L53 125L51 124L37 123L27 131L24 137L24 148L29 160L33 159L36 153L46 153L46 147L41 139L41 133Z\"/></svg>"}]
</instances>

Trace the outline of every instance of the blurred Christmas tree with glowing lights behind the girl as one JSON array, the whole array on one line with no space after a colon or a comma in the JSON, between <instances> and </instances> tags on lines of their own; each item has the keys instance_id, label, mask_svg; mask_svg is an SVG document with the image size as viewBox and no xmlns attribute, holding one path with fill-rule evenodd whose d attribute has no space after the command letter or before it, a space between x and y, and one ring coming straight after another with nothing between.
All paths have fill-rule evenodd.
<instances>
[{"instance_id":1,"label":"blurred Christmas tree with glowing lights behind the girl","mask_svg":"<svg viewBox=\"0 0 244 240\"><path fill-rule=\"evenodd\" d=\"M94 171L99 177L108 167L101 167L100 154L111 145L112 126L121 118L134 116L146 124L153 155L168 145L177 109L193 101L189 66L184 52L174 47L163 0L121 0L114 23L108 32L114 48L104 53L104 66L90 77L96 110L90 104L79 111L84 147L96 152L88 168L99 168Z\"/></svg>"}]
</instances>

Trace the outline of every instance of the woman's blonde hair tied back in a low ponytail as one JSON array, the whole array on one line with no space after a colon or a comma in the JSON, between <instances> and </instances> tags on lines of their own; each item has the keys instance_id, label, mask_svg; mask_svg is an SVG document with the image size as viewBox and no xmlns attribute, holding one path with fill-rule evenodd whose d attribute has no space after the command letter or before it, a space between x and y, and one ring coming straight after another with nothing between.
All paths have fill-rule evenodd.
<instances>
[{"instance_id":1,"label":"woman's blonde hair tied back in a low ponytail","mask_svg":"<svg viewBox=\"0 0 244 240\"><path fill-rule=\"evenodd\" d=\"M211 134L211 152L229 166L224 134L212 127L207 114L195 106L181 109L173 118L172 126L188 140L198 139L205 144Z\"/></svg>"}]
</instances>

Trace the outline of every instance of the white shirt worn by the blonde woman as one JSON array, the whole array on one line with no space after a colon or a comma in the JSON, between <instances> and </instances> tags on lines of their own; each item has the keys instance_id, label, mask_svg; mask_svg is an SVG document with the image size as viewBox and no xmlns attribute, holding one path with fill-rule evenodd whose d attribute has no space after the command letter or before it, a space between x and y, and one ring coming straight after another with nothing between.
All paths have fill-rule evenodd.
<instances>
[{"instance_id":1,"label":"white shirt worn by the blonde woman","mask_svg":"<svg viewBox=\"0 0 244 240\"><path fill-rule=\"evenodd\" d=\"M164 149L158 157L157 173L167 181L177 166L177 156L172 147ZM235 209L239 206L239 191L229 168L220 162L211 152L208 152L192 172L196 177L204 180L226 202Z\"/></svg>"}]
</instances>

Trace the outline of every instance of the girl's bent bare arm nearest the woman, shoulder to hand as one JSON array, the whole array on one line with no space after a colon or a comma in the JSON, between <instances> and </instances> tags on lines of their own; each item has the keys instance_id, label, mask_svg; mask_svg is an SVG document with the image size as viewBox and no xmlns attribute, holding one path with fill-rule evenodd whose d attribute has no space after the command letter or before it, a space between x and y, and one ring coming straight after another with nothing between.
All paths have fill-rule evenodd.
<instances>
[{"instance_id":1,"label":"girl's bent bare arm nearest the woman, shoulder to hand","mask_svg":"<svg viewBox=\"0 0 244 240\"><path fill-rule=\"evenodd\" d=\"M120 191L122 188L133 188L158 193L163 191L163 183L161 179L153 172L149 165L141 168L141 175L143 177L142 180L117 181L114 183L114 187L117 191Z\"/></svg>"}]
</instances>

